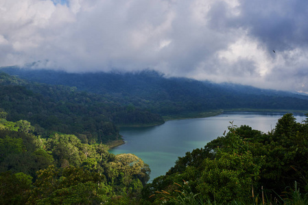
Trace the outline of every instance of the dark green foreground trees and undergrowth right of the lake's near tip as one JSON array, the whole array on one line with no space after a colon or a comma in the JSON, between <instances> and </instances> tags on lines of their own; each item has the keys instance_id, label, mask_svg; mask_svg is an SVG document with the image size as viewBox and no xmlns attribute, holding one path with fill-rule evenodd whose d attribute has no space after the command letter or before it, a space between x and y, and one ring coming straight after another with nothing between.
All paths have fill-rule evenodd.
<instances>
[{"instance_id":1,"label":"dark green foreground trees and undergrowth right of the lake's near tip","mask_svg":"<svg viewBox=\"0 0 308 205\"><path fill-rule=\"evenodd\" d=\"M279 119L268 134L249 126L237 128L231 122L225 136L204 149L187 152L165 176L147 184L143 199L171 204L258 204L263 200L305 204L307 129L307 121L298 123L292 114ZM180 185L182 180L189 184L189 194L188 187ZM298 182L296 188L286 192L285 187L294 182Z\"/></svg>"}]
</instances>

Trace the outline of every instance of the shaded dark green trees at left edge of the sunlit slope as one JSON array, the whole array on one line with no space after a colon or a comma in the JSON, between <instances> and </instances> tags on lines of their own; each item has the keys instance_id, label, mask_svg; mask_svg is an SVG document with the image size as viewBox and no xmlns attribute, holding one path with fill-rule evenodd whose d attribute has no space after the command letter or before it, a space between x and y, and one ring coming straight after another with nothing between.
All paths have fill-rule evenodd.
<instances>
[{"instance_id":1,"label":"shaded dark green trees at left edge of the sunlit slope","mask_svg":"<svg viewBox=\"0 0 308 205\"><path fill-rule=\"evenodd\" d=\"M30 133L33 127L29 122L1 120L0 126L0 172L23 172L35 177L36 171L53 163L40 138Z\"/></svg>"}]
</instances>

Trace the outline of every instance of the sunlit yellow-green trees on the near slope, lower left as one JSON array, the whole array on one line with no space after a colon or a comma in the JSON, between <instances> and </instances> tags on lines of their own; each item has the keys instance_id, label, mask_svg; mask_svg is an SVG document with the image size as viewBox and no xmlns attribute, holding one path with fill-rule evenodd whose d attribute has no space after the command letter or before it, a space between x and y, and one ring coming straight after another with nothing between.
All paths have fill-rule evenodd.
<instances>
[{"instance_id":1,"label":"sunlit yellow-green trees on the near slope, lower left","mask_svg":"<svg viewBox=\"0 0 308 205\"><path fill-rule=\"evenodd\" d=\"M150 178L134 154L115 156L75 135L44 139L29 122L0 115L0 204L132 204Z\"/></svg>"}]
</instances>

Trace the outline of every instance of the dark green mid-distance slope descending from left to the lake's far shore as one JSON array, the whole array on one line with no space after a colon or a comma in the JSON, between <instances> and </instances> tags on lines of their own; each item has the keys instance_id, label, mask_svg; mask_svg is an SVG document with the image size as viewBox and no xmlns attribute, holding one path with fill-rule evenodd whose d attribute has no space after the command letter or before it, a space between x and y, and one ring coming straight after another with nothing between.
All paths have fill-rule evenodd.
<instances>
[{"instance_id":1,"label":"dark green mid-distance slope descending from left to the lake's far shore","mask_svg":"<svg viewBox=\"0 0 308 205\"><path fill-rule=\"evenodd\" d=\"M0 73L0 109L8 120L28 120L36 133L49 136L74 134L86 143L106 143L120 138L116 125L161 124L160 115L108 96L78 92L74 87L28 83Z\"/></svg>"}]
</instances>

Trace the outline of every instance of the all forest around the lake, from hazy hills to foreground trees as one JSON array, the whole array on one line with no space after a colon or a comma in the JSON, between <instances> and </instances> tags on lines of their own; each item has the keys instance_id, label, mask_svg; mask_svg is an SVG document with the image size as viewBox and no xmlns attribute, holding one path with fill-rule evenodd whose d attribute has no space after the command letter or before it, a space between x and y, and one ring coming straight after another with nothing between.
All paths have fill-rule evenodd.
<instances>
[{"instance_id":1,"label":"all forest around the lake, from hazy hills to foreground trees","mask_svg":"<svg viewBox=\"0 0 308 205\"><path fill-rule=\"evenodd\" d=\"M33 77L45 72L51 71L33 71ZM75 83L56 85L54 76L56 84ZM308 120L298 123L291 113L270 133L230 122L228 133L179 157L149 184L142 159L110 154L106 146L121 139L121 125L217 109L308 110L306 96L166 79L152 71L51 72L43 80L0 73L0 204L308 202Z\"/></svg>"}]
</instances>

